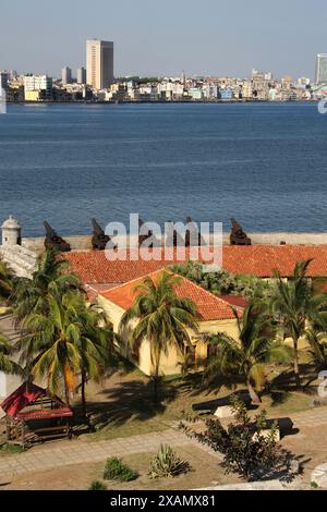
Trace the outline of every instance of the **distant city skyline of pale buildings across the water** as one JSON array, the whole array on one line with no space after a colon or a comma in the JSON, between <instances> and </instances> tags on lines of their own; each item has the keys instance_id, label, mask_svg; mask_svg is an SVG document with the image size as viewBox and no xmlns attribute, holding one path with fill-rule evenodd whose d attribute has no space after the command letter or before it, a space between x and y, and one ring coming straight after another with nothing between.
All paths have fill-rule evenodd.
<instances>
[{"instance_id":1,"label":"distant city skyline of pale buildings across the water","mask_svg":"<svg viewBox=\"0 0 327 512\"><path fill-rule=\"evenodd\" d=\"M19 75L0 72L0 85L7 89L8 101L308 101L327 90L327 53L316 59L316 83L310 78L293 80L289 74L281 80L271 71L252 70L250 77L181 76L137 77L114 80L114 45L112 41L86 41L86 69L64 66L61 78L48 75ZM325 87L326 85L326 87Z\"/></svg>"}]
</instances>

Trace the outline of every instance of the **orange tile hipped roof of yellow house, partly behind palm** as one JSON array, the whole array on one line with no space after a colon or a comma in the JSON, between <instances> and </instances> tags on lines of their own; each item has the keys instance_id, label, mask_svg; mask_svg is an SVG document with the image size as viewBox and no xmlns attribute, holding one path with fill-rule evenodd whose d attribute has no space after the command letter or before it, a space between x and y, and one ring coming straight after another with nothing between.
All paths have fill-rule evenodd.
<instances>
[{"instance_id":1,"label":"orange tile hipped roof of yellow house, partly behind palm","mask_svg":"<svg viewBox=\"0 0 327 512\"><path fill-rule=\"evenodd\" d=\"M165 270L153 272L149 277L156 282L162 271ZM177 294L180 297L191 298L197 306L201 320L227 320L234 318L232 308L228 302L213 295L189 279L180 276L179 278L180 283L175 287ZM126 310L133 305L134 298L137 295L135 287L140 284L143 279L144 278L135 279L134 281L112 288L106 292L100 292L100 295Z\"/></svg>"}]
</instances>

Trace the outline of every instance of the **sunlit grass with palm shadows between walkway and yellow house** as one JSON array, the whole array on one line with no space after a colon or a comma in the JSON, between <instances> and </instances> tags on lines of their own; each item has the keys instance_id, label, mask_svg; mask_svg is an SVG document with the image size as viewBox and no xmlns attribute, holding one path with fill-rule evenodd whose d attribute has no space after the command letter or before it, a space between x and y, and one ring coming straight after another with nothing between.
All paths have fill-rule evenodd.
<instances>
[{"instance_id":1,"label":"sunlit grass with palm shadows between walkway and yellow house","mask_svg":"<svg viewBox=\"0 0 327 512\"><path fill-rule=\"evenodd\" d=\"M289 368L271 368L270 388L263 395L261 409L268 416L290 416L292 413L313 409L316 397L314 380L317 373L310 365L303 366L304 391L296 391ZM226 379L204 385L201 374L170 377L162 380L160 397L155 403L153 385L138 370L116 374L100 386L90 383L87 389L88 411L95 428L93 434L82 434L84 440L113 439L170 428L171 422L190 417L205 418L210 413L193 413L192 404L227 397L233 391L245 390L242 383Z\"/></svg>"}]
</instances>

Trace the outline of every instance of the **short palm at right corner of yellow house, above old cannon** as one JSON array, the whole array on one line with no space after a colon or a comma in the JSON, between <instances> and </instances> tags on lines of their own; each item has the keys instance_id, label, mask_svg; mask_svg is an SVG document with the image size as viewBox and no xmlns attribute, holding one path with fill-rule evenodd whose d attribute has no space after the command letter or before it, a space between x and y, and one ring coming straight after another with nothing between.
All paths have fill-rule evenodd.
<instances>
[{"instance_id":1,"label":"short palm at right corner of yellow house, above old cannon","mask_svg":"<svg viewBox=\"0 0 327 512\"><path fill-rule=\"evenodd\" d=\"M266 363L290 361L288 349L274 339L274 329L267 316L255 312L250 303L240 318L233 309L238 324L239 340L226 333L208 338L209 343L217 348L217 355L208 361L205 377L213 375L239 374L246 383L249 394L254 403L261 402L257 390L266 380Z\"/></svg>"}]
</instances>

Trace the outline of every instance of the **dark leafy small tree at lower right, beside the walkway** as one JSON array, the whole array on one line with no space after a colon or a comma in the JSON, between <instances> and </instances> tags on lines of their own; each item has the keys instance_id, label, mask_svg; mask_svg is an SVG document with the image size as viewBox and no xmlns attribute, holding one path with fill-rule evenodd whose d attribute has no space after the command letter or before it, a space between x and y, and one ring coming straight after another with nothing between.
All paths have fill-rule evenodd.
<instances>
[{"instance_id":1,"label":"dark leafy small tree at lower right, beside the walkway","mask_svg":"<svg viewBox=\"0 0 327 512\"><path fill-rule=\"evenodd\" d=\"M277 425L267 429L266 413L262 412L251 420L245 405L233 399L235 422L225 429L219 419L208 419L206 431L193 432L201 443L223 454L222 466L227 473L235 472L253 480L264 477L279 464L276 442ZM264 435L263 430L267 430Z\"/></svg>"}]
</instances>

